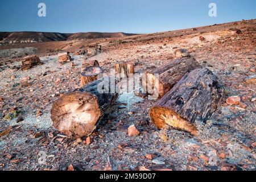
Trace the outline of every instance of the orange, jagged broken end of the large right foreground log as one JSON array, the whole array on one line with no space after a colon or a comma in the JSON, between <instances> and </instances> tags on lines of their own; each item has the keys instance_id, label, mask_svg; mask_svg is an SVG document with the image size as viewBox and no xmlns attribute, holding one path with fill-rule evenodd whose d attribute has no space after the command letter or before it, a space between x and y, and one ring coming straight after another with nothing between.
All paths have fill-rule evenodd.
<instances>
[{"instance_id":1,"label":"orange, jagged broken end of the large right foreground log","mask_svg":"<svg viewBox=\"0 0 256 182\"><path fill-rule=\"evenodd\" d=\"M155 106L150 109L149 114L151 121L158 127L158 129L164 129L171 126L177 130L184 130L195 136L198 135L196 127L191 122L183 119L171 109Z\"/></svg>"}]
</instances>

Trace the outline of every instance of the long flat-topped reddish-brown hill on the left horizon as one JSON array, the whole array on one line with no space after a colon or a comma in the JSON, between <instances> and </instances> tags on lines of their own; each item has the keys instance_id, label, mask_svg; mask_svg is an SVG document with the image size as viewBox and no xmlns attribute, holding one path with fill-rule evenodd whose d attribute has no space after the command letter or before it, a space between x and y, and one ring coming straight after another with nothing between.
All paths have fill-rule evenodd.
<instances>
[{"instance_id":1,"label":"long flat-topped reddish-brown hill on the left horizon","mask_svg":"<svg viewBox=\"0 0 256 182\"><path fill-rule=\"evenodd\" d=\"M56 32L0 32L1 44L15 43L37 43L49 41L64 40L82 40L82 39L99 39L99 38L118 38L136 34L125 34L123 32L106 33L106 32L81 32L75 34L61 34Z\"/></svg>"}]
</instances>

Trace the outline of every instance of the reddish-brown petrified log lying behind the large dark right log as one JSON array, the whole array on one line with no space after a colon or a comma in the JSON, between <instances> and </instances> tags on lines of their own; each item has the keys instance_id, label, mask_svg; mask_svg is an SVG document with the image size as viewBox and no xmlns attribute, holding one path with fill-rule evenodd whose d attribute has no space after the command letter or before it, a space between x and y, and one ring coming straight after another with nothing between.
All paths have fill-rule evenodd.
<instances>
[{"instance_id":1,"label":"reddish-brown petrified log lying behind the large dark right log","mask_svg":"<svg viewBox=\"0 0 256 182\"><path fill-rule=\"evenodd\" d=\"M142 88L147 94L162 98L185 73L197 68L201 68L201 65L192 57L171 60L153 71L146 72L146 76L142 78ZM159 77L156 77L156 75L159 75ZM158 83L159 86L155 83Z\"/></svg>"}]
</instances>

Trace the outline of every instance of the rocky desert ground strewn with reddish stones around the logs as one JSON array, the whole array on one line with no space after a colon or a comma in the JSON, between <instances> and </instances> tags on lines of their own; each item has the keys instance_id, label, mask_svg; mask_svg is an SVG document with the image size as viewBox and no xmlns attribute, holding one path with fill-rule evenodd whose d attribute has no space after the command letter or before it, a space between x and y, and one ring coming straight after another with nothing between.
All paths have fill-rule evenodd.
<instances>
[{"instance_id":1,"label":"rocky desert ground strewn with reddish stones around the logs","mask_svg":"<svg viewBox=\"0 0 256 182\"><path fill-rule=\"evenodd\" d=\"M255 39L256 20L243 20L125 38L0 47L35 47L44 63L21 71L19 59L0 60L0 170L255 170ZM74 54L88 44L101 44L102 52ZM197 123L199 137L158 130L148 116L155 101L133 93L119 96L89 138L70 140L52 127L51 106L79 88L86 58L98 60L105 73L117 60L134 61L135 71L143 73L172 59L177 48L188 49L225 86L207 125ZM58 51L72 52L73 63L59 65ZM127 134L131 125L138 136Z\"/></svg>"}]
</instances>

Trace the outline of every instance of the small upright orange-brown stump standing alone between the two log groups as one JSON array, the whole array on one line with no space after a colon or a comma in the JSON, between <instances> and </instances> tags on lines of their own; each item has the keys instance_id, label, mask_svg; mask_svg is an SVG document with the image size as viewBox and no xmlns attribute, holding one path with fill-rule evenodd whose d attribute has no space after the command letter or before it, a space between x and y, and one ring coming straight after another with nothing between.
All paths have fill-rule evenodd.
<instances>
[{"instance_id":1,"label":"small upright orange-brown stump standing alone between the two log groups","mask_svg":"<svg viewBox=\"0 0 256 182\"><path fill-rule=\"evenodd\" d=\"M127 78L134 75L133 63L115 63L114 68L118 78Z\"/></svg>"}]
</instances>

